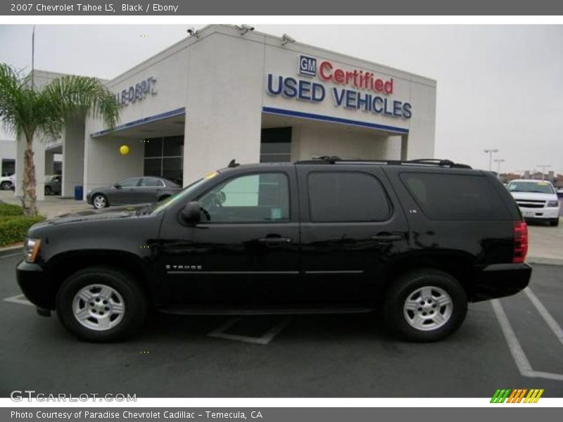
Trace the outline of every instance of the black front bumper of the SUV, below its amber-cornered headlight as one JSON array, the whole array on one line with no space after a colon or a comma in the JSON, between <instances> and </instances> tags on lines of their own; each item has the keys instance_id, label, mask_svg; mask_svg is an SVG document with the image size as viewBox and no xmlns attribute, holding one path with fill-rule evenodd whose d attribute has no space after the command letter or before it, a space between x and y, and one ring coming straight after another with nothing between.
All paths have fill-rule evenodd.
<instances>
[{"instance_id":1,"label":"black front bumper of the SUV, below its amber-cornered headlight","mask_svg":"<svg viewBox=\"0 0 563 422\"><path fill-rule=\"evenodd\" d=\"M15 274L27 300L38 308L55 309L55 289L47 271L37 264L21 261Z\"/></svg>"}]
</instances>

